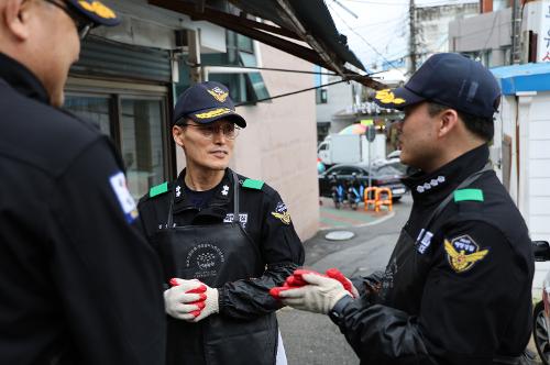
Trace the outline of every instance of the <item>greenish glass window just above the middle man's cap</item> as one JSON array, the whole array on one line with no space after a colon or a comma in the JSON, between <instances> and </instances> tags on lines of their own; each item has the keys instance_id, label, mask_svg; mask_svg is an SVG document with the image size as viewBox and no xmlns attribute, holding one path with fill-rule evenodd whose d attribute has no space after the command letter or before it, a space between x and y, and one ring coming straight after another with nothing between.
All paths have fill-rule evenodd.
<instances>
[{"instance_id":1,"label":"greenish glass window just above the middle man's cap","mask_svg":"<svg viewBox=\"0 0 550 365\"><path fill-rule=\"evenodd\" d=\"M242 71L228 71L216 66L244 66L256 67L257 60L254 43L251 38L227 31L227 53L201 55L201 63L207 67L208 79L218 81L229 88L229 93L235 102L257 101L270 98L262 74L242 69Z\"/></svg>"}]
</instances>

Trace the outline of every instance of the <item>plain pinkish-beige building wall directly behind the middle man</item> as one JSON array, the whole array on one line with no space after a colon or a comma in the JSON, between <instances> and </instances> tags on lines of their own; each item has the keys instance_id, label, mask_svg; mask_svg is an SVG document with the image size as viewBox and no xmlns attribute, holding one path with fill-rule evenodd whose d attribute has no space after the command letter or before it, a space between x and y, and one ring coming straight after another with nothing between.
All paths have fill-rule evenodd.
<instances>
[{"instance_id":1,"label":"plain pinkish-beige building wall directly behind the middle man","mask_svg":"<svg viewBox=\"0 0 550 365\"><path fill-rule=\"evenodd\" d=\"M311 70L312 65L260 44L263 67ZM312 75L262 71L271 96L310 88ZM248 126L238 137L232 166L274 187L289 208L301 240L319 229L315 91L274 99L238 111Z\"/></svg>"}]
</instances>

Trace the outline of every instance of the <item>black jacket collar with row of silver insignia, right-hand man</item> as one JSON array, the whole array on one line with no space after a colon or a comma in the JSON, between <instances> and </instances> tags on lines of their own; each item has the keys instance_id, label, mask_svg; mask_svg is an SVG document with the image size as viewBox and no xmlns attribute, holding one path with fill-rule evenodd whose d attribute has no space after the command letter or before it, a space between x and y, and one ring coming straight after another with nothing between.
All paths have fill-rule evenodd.
<instances>
[{"instance_id":1,"label":"black jacket collar with row of silver insignia, right-hand man","mask_svg":"<svg viewBox=\"0 0 550 365\"><path fill-rule=\"evenodd\" d=\"M415 203L429 206L451 193L470 175L481 170L488 161L488 145L466 152L431 174L419 172L403 179Z\"/></svg>"}]
</instances>

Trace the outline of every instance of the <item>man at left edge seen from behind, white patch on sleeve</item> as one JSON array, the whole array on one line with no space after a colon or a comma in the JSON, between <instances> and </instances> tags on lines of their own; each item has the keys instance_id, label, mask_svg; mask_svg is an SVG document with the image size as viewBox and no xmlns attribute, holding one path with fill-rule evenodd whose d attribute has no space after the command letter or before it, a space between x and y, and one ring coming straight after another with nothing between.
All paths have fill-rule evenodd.
<instances>
[{"instance_id":1,"label":"man at left edge seen from behind, white patch on sleeve","mask_svg":"<svg viewBox=\"0 0 550 365\"><path fill-rule=\"evenodd\" d=\"M0 364L164 362L161 266L122 163L57 109L100 1L0 1Z\"/></svg>"}]
</instances>

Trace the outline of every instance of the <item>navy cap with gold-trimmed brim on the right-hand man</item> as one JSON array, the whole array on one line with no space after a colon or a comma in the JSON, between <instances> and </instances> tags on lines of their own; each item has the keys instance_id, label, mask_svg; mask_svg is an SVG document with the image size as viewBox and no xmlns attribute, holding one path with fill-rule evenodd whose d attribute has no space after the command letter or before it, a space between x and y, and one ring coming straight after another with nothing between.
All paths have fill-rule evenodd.
<instances>
[{"instance_id":1,"label":"navy cap with gold-trimmed brim on the right-hand man","mask_svg":"<svg viewBox=\"0 0 550 365\"><path fill-rule=\"evenodd\" d=\"M479 62L440 53L428 58L405 86L377 91L374 101L387 109L433 101L466 114L493 118L501 103L501 87Z\"/></svg>"}]
</instances>

